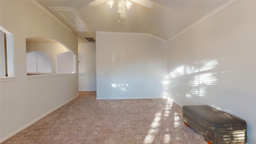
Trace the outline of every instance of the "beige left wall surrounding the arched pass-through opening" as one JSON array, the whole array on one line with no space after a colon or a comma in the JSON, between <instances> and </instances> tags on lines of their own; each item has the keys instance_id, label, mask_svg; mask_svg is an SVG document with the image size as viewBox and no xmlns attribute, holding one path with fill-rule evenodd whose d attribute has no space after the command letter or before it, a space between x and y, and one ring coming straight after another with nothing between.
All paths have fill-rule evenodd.
<instances>
[{"instance_id":1,"label":"beige left wall surrounding the arched pass-through opening","mask_svg":"<svg viewBox=\"0 0 256 144\"><path fill-rule=\"evenodd\" d=\"M0 1L0 25L13 34L14 81L0 82L1 142L78 96L78 74L28 79L26 38L62 42L78 55L78 37L25 0ZM76 59L78 61L78 59ZM78 72L78 64L76 65ZM56 99L56 96L59 98Z\"/></svg>"}]
</instances>

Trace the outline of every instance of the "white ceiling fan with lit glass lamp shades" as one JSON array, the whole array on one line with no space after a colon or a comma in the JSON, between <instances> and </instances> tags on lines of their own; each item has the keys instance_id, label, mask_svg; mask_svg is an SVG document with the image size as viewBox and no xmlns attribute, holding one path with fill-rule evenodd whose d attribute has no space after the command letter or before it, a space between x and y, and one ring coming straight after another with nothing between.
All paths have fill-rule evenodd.
<instances>
[{"instance_id":1,"label":"white ceiling fan with lit glass lamp shades","mask_svg":"<svg viewBox=\"0 0 256 144\"><path fill-rule=\"evenodd\" d=\"M120 18L126 17L126 11L125 11L124 5L126 5L127 9L129 9L132 6L132 2L135 2L142 6L146 6L147 8L151 8L153 6L153 2L150 0L116 0L116 1L118 2L117 12L120 13ZM106 2L109 8L112 8L112 6L114 5L114 0L94 0L89 4L90 6L97 6L98 4L102 4L103 2Z\"/></svg>"}]
</instances>

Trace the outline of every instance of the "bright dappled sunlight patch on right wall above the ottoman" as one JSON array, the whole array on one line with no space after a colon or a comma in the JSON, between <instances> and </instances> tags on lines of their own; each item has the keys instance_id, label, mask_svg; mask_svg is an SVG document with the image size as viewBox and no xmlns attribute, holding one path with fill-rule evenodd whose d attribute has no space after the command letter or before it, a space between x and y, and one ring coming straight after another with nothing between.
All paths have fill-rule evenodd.
<instances>
[{"instance_id":1,"label":"bright dappled sunlight patch on right wall above the ottoman","mask_svg":"<svg viewBox=\"0 0 256 144\"><path fill-rule=\"evenodd\" d=\"M210 91L218 82L218 74L224 73L213 70L217 65L218 59L212 59L176 68L165 77L164 97L182 96L194 102L211 97Z\"/></svg>"}]
</instances>

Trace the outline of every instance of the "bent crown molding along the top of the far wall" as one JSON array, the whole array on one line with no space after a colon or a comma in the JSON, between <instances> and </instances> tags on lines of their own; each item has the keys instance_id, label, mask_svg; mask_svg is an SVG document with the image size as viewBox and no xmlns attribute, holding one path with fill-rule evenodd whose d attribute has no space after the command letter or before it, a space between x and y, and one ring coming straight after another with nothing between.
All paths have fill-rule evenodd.
<instances>
[{"instance_id":1,"label":"bent crown molding along the top of the far wall","mask_svg":"<svg viewBox=\"0 0 256 144\"><path fill-rule=\"evenodd\" d=\"M130 35L130 36L148 36L148 37L151 37L151 38L154 38L156 40L159 40L161 42L165 42L167 43L167 40L164 40L162 38L159 38L157 36L154 36L152 34L148 34L148 33L135 33L135 32L100 32L100 31L97 31L96 32L97 34L113 34L113 35Z\"/></svg>"}]
</instances>

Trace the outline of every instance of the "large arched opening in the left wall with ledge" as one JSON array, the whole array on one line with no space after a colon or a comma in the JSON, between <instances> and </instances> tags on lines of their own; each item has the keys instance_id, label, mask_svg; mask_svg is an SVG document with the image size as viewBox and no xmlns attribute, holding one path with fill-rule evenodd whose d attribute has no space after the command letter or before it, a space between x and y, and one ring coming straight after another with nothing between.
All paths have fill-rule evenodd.
<instances>
[{"instance_id":1,"label":"large arched opening in the left wall with ledge","mask_svg":"<svg viewBox=\"0 0 256 144\"><path fill-rule=\"evenodd\" d=\"M76 55L50 38L26 38L27 74L76 73Z\"/></svg>"}]
</instances>

